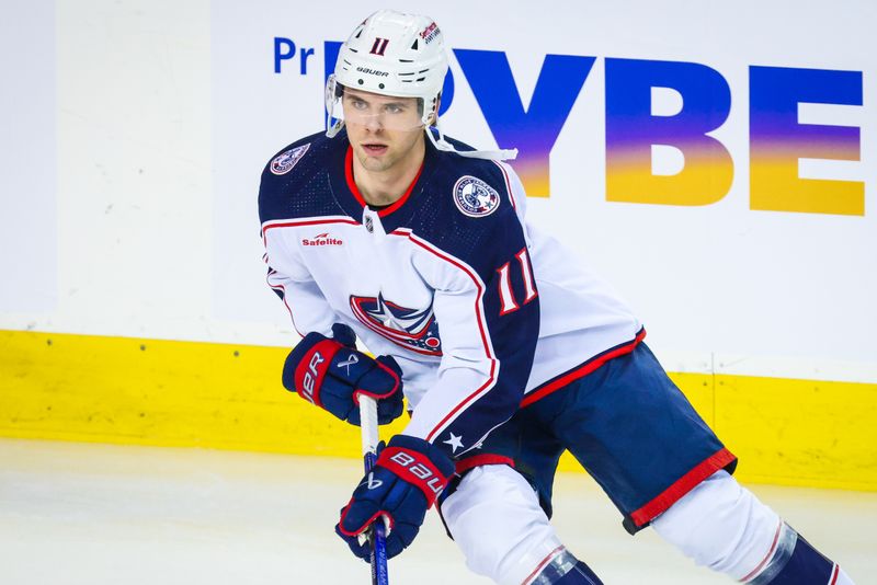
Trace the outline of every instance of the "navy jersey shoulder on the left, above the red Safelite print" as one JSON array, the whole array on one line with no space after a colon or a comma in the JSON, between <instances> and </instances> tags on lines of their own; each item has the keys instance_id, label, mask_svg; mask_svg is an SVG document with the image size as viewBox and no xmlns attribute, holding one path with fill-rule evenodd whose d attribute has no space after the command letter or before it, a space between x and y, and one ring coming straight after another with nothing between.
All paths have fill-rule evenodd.
<instances>
[{"instance_id":1,"label":"navy jersey shoulder on the left, above the red Safelite print","mask_svg":"<svg viewBox=\"0 0 877 585\"><path fill-rule=\"evenodd\" d=\"M259 187L261 223L276 219L295 219L344 215L332 196L327 169L344 160L346 140L327 138L317 133L296 140L277 152L262 171Z\"/></svg>"}]
</instances>

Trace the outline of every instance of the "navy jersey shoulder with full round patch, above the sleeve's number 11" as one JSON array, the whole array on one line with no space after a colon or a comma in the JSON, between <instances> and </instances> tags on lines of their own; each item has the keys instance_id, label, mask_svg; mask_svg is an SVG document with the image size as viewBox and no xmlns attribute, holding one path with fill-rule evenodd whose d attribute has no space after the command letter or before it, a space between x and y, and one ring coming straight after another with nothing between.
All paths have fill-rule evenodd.
<instances>
[{"instance_id":1,"label":"navy jersey shoulder with full round patch, above the sleeve's number 11","mask_svg":"<svg viewBox=\"0 0 877 585\"><path fill-rule=\"evenodd\" d=\"M447 140L457 150L472 150ZM463 260L482 277L496 269L498 260L521 250L523 227L498 163L441 151L428 142L428 164L432 169L411 218L415 236Z\"/></svg>"}]
</instances>

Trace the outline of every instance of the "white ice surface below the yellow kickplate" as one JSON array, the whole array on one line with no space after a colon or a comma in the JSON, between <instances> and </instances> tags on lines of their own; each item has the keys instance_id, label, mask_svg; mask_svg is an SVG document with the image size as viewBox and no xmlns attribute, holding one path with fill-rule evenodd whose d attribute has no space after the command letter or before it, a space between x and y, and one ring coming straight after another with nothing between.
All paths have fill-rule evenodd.
<instances>
[{"instance_id":1,"label":"white ice surface below the yellow kickplate","mask_svg":"<svg viewBox=\"0 0 877 585\"><path fill-rule=\"evenodd\" d=\"M333 532L350 459L0 439L0 584L371 583ZM858 585L877 583L877 493L755 485ZM731 583L651 530L630 537L585 475L560 474L555 524L607 585ZM394 585L487 584L433 512Z\"/></svg>"}]
</instances>

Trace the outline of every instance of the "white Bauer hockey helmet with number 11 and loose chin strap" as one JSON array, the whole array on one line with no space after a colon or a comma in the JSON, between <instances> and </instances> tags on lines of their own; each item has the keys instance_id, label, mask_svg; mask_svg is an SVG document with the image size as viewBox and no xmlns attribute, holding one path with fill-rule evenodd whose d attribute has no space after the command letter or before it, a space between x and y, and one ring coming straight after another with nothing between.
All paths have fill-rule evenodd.
<instances>
[{"instance_id":1,"label":"white Bauer hockey helmet with number 11 and loose chin strap","mask_svg":"<svg viewBox=\"0 0 877 585\"><path fill-rule=\"evenodd\" d=\"M379 10L356 26L341 45L334 73L326 82L326 108L333 137L344 125L343 88L394 97L417 97L421 124L440 150L456 152L438 128L438 97L447 74L447 53L441 28L431 18ZM333 122L334 121L334 122ZM430 130L434 124L438 137ZM464 157L509 159L516 150L467 151Z\"/></svg>"}]
</instances>

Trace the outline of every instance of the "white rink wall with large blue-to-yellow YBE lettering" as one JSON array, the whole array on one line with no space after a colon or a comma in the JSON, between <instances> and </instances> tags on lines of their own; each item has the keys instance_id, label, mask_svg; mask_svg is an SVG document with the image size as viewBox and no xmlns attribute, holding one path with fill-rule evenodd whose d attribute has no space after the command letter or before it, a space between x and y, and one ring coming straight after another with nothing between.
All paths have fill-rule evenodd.
<instances>
[{"instance_id":1,"label":"white rink wall with large blue-to-yellow YBE lettering","mask_svg":"<svg viewBox=\"0 0 877 585\"><path fill-rule=\"evenodd\" d=\"M503 5L406 7L454 49L445 131L522 149L549 194L532 221L616 286L667 367L877 381L877 7ZM321 128L327 51L378 8L12 3L0 328L293 343L259 174Z\"/></svg>"}]
</instances>

